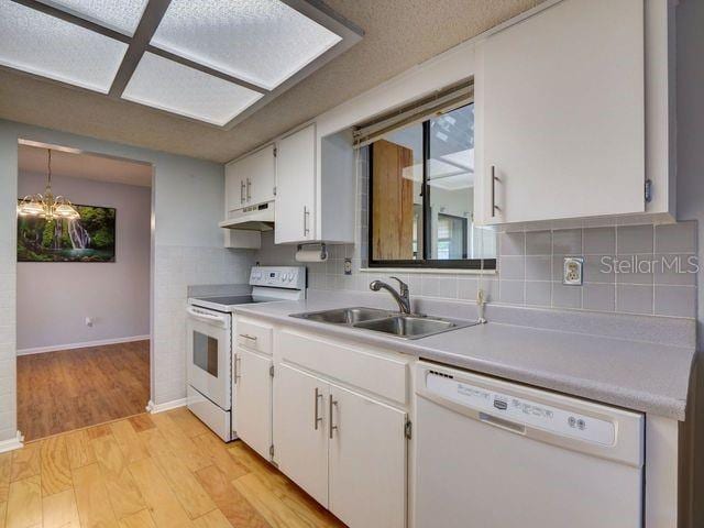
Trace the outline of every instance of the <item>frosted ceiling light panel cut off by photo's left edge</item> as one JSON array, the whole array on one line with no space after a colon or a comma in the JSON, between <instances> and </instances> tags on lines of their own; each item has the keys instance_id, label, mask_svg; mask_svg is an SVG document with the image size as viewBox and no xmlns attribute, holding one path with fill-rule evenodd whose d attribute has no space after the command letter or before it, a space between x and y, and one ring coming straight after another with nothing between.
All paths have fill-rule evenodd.
<instances>
[{"instance_id":1,"label":"frosted ceiling light panel cut off by photo's left edge","mask_svg":"<svg viewBox=\"0 0 704 528\"><path fill-rule=\"evenodd\" d=\"M107 94L127 44L0 0L0 64Z\"/></svg>"}]
</instances>

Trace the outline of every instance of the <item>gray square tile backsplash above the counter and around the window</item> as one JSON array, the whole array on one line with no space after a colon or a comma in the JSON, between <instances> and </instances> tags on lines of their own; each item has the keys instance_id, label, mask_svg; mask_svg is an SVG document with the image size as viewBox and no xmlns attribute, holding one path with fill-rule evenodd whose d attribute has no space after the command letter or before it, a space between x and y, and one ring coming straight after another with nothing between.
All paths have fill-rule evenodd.
<instances>
[{"instance_id":1,"label":"gray square tile backsplash above the counter and around the window","mask_svg":"<svg viewBox=\"0 0 704 528\"><path fill-rule=\"evenodd\" d=\"M366 189L366 161L360 156L360 188ZM619 226L553 231L497 233L496 274L415 274L369 271L366 262L366 193L358 197L356 244L331 245L330 258L308 264L308 287L320 290L369 292L375 278L396 275L411 295L474 301L481 287L490 302L556 309L695 317L696 223ZM263 233L261 264L297 265L295 246L275 246ZM584 257L584 284L562 284L563 257ZM344 258L352 275L344 275ZM679 258L679 267L672 258ZM638 262L639 264L634 264ZM645 262L645 264L644 264ZM667 266L662 264L667 262ZM676 262L675 262L676 264ZM622 267L618 267L622 266ZM635 268L634 268L635 267Z\"/></svg>"}]
</instances>

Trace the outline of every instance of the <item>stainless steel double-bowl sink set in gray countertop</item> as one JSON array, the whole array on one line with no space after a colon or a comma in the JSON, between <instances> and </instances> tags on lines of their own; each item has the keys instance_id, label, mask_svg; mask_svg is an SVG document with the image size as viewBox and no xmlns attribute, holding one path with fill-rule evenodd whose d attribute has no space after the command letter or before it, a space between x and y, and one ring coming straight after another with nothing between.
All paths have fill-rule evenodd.
<instances>
[{"instance_id":1,"label":"stainless steel double-bowl sink set in gray countertop","mask_svg":"<svg viewBox=\"0 0 704 528\"><path fill-rule=\"evenodd\" d=\"M316 322L348 326L372 330L402 339L420 339L436 333L472 327L474 321L446 319L420 314L400 314L378 308L338 308L324 311L307 311L290 317Z\"/></svg>"}]
</instances>

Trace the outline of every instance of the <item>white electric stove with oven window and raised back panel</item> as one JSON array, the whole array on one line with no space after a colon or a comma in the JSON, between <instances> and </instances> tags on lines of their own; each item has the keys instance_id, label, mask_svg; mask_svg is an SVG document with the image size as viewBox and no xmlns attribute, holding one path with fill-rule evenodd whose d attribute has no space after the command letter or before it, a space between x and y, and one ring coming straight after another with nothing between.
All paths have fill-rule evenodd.
<instances>
[{"instance_id":1,"label":"white electric stove with oven window and raised back panel","mask_svg":"<svg viewBox=\"0 0 704 528\"><path fill-rule=\"evenodd\" d=\"M255 266L251 295L191 297L186 319L187 405L226 442L234 440L233 340L235 306L306 297L306 268Z\"/></svg>"}]
</instances>

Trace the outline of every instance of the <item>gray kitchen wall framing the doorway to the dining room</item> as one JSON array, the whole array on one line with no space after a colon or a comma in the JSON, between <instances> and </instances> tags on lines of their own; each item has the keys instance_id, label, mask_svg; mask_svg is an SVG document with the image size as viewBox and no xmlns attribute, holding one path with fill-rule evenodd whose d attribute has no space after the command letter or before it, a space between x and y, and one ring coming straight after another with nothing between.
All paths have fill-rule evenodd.
<instances>
[{"instance_id":1,"label":"gray kitchen wall framing the doorway to the dining room","mask_svg":"<svg viewBox=\"0 0 704 528\"><path fill-rule=\"evenodd\" d=\"M223 166L0 120L0 441L16 432L18 140L81 148L154 166L152 400L185 397L187 284L244 282L252 255L223 249Z\"/></svg>"}]
</instances>

